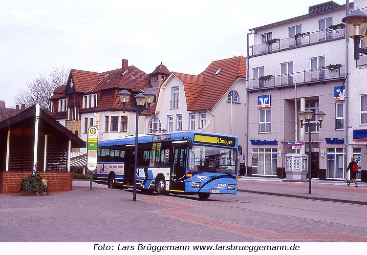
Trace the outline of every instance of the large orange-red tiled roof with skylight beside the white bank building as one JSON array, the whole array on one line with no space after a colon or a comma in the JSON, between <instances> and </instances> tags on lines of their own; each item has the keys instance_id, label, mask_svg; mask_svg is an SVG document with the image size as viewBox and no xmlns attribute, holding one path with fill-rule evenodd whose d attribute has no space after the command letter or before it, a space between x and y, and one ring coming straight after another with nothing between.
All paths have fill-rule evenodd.
<instances>
[{"instance_id":1,"label":"large orange-red tiled roof with skylight beside the white bank building","mask_svg":"<svg viewBox=\"0 0 367 255\"><path fill-rule=\"evenodd\" d=\"M199 76L204 78L205 87L188 110L213 108L239 77L246 78L246 59L240 56L213 61Z\"/></svg>"}]
</instances>

